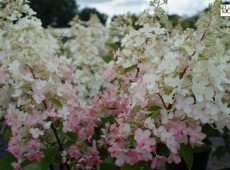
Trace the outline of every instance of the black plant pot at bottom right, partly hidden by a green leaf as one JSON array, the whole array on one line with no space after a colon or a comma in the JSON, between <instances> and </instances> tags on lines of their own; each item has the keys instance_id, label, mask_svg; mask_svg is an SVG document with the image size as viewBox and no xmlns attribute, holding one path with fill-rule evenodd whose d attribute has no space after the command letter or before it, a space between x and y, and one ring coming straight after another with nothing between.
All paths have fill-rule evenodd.
<instances>
[{"instance_id":1,"label":"black plant pot at bottom right, partly hidden by a green leaf","mask_svg":"<svg viewBox=\"0 0 230 170\"><path fill-rule=\"evenodd\" d=\"M211 148L202 146L194 150L192 170L206 170ZM166 170L188 170L185 161L182 159L179 164L166 164Z\"/></svg>"}]
</instances>

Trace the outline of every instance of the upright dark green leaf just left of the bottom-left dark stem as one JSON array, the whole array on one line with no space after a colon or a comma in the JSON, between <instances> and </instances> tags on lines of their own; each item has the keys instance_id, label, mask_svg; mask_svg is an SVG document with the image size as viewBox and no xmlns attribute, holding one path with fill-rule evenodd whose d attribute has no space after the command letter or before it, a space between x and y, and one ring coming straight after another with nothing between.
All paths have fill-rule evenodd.
<instances>
[{"instance_id":1,"label":"upright dark green leaf just left of the bottom-left dark stem","mask_svg":"<svg viewBox=\"0 0 230 170\"><path fill-rule=\"evenodd\" d=\"M49 169L51 163L54 162L54 158L57 155L58 150L55 148L48 149L44 154L45 157L41 161L42 170Z\"/></svg>"}]
</instances>

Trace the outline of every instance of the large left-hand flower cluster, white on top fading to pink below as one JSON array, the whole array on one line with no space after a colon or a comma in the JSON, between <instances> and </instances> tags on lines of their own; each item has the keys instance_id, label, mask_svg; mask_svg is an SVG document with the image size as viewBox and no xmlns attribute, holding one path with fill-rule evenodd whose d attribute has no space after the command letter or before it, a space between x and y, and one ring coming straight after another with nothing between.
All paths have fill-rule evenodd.
<instances>
[{"instance_id":1,"label":"large left-hand flower cluster, white on top fading to pink below","mask_svg":"<svg viewBox=\"0 0 230 170\"><path fill-rule=\"evenodd\" d=\"M12 131L8 151L19 163L40 161L52 143L63 152L60 133L77 133L81 140L72 144L84 143L95 123L92 112L77 102L69 60L57 55L56 39L42 28L27 3L0 4L0 109Z\"/></svg>"}]
</instances>

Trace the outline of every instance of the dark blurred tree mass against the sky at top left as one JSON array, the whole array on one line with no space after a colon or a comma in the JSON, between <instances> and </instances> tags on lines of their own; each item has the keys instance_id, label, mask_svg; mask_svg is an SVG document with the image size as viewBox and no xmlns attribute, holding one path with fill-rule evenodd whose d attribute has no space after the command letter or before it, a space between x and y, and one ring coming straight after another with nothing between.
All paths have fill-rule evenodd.
<instances>
[{"instance_id":1,"label":"dark blurred tree mass against the sky at top left","mask_svg":"<svg viewBox=\"0 0 230 170\"><path fill-rule=\"evenodd\" d=\"M95 8L79 10L75 0L30 0L31 8L37 12L43 27L54 28L69 27L69 22L75 15L79 15L82 21L88 21L91 14L96 14L101 23L105 25L108 15L100 13Z\"/></svg>"}]
</instances>

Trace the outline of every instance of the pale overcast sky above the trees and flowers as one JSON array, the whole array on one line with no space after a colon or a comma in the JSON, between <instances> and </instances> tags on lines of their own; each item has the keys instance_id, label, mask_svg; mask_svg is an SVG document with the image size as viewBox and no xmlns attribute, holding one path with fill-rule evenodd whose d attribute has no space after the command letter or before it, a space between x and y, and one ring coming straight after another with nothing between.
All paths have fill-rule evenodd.
<instances>
[{"instance_id":1,"label":"pale overcast sky above the trees and flowers","mask_svg":"<svg viewBox=\"0 0 230 170\"><path fill-rule=\"evenodd\" d=\"M148 2L149 0L77 0L80 8L94 7L100 12L108 14L109 17L128 11L138 13L148 8ZM164 9L169 14L191 16L206 8L211 2L214 0L168 0Z\"/></svg>"}]
</instances>

